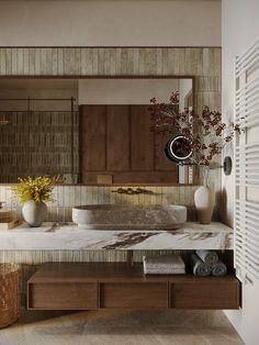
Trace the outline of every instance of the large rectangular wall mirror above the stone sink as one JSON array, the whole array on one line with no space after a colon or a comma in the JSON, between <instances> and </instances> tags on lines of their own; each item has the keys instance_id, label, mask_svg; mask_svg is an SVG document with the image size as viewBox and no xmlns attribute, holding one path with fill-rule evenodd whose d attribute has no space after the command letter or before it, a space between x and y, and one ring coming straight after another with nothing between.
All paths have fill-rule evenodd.
<instances>
[{"instance_id":1,"label":"large rectangular wall mirror above the stone sink","mask_svg":"<svg viewBox=\"0 0 259 345\"><path fill-rule=\"evenodd\" d=\"M192 77L0 80L0 183L61 175L65 183L194 183L150 131L150 99L193 109Z\"/></svg>"}]
</instances>

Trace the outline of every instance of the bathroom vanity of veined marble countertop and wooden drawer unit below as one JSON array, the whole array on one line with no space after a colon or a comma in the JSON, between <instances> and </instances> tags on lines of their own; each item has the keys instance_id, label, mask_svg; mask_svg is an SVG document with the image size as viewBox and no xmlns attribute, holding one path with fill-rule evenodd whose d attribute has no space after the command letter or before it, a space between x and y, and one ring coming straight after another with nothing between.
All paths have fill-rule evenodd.
<instances>
[{"instance_id":1,"label":"bathroom vanity of veined marble countertop and wooden drawer unit below","mask_svg":"<svg viewBox=\"0 0 259 345\"><path fill-rule=\"evenodd\" d=\"M82 230L45 224L0 233L15 249L233 249L233 230L222 223L187 222L177 231ZM32 230L31 230L32 231ZM29 238L31 238L29 241ZM240 282L225 277L148 276L139 263L47 263L27 281L31 310L238 309Z\"/></svg>"}]
</instances>

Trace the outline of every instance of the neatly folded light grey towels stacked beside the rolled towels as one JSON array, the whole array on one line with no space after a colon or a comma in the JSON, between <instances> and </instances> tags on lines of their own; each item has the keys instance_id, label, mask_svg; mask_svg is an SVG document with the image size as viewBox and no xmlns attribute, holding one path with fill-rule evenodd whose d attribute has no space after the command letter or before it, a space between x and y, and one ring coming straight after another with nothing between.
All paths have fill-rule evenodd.
<instances>
[{"instance_id":1,"label":"neatly folded light grey towels stacked beside the rolled towels","mask_svg":"<svg viewBox=\"0 0 259 345\"><path fill-rule=\"evenodd\" d=\"M143 257L145 275L184 275L185 264L180 255L154 255Z\"/></svg>"}]
</instances>

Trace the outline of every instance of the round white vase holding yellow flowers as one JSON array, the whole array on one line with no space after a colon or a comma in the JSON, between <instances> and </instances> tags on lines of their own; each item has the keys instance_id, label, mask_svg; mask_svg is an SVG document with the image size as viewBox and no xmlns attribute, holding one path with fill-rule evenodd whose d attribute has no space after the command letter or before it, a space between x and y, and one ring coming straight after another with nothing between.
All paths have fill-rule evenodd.
<instances>
[{"instance_id":1,"label":"round white vase holding yellow flowers","mask_svg":"<svg viewBox=\"0 0 259 345\"><path fill-rule=\"evenodd\" d=\"M22 215L30 226L41 226L47 215L47 205L43 201L29 200L22 208Z\"/></svg>"}]
</instances>

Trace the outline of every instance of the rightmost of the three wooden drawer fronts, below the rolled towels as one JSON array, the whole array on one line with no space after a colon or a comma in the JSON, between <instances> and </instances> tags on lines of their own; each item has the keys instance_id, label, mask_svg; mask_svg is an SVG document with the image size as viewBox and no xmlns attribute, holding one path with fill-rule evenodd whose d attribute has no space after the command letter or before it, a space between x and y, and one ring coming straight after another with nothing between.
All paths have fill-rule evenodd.
<instances>
[{"instance_id":1,"label":"rightmost of the three wooden drawer fronts, below the rolled towels","mask_svg":"<svg viewBox=\"0 0 259 345\"><path fill-rule=\"evenodd\" d=\"M170 308L238 309L239 283L238 281L170 283Z\"/></svg>"}]
</instances>

